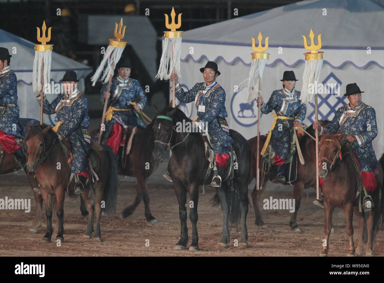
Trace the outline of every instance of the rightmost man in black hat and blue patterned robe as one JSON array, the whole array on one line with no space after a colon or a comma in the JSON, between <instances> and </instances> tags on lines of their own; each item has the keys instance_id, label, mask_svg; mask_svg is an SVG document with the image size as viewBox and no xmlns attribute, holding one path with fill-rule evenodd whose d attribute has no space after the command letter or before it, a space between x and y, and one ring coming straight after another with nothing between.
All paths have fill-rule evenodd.
<instances>
[{"instance_id":1,"label":"rightmost man in black hat and blue patterned robe","mask_svg":"<svg viewBox=\"0 0 384 283\"><path fill-rule=\"evenodd\" d=\"M356 83L346 86L346 96L349 104L344 105L336 111L332 122L325 127L318 122L313 123L313 129L319 129L319 135L336 134L346 132L345 138L353 142L351 149L356 153L359 163L363 185L369 195L377 187L374 172L379 165L376 154L372 147L372 140L377 136L376 112L361 100L361 91ZM364 201L364 207L366 207ZM372 201L372 200L370 200ZM318 206L323 206L323 199L313 201Z\"/></svg>"}]
</instances>

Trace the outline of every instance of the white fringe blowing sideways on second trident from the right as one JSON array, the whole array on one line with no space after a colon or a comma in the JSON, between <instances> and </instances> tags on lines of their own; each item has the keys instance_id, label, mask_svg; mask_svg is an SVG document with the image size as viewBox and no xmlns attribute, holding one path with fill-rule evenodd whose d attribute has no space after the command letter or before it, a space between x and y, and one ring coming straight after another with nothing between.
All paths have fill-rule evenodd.
<instances>
[{"instance_id":1,"label":"white fringe blowing sideways on second trident from the right","mask_svg":"<svg viewBox=\"0 0 384 283\"><path fill-rule=\"evenodd\" d=\"M261 81L263 81L264 67L267 61L268 59L252 59L249 78L243 80L239 85L238 91L243 89L247 90L247 100L249 103L258 97L259 92L261 95L261 90L259 89L259 74Z\"/></svg>"}]
</instances>

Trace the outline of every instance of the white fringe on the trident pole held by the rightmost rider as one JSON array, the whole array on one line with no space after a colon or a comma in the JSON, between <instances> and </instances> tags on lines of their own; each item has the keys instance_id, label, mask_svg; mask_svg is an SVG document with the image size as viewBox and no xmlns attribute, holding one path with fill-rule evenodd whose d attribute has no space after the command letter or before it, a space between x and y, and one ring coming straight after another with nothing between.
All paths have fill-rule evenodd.
<instances>
[{"instance_id":1,"label":"white fringe on the trident pole held by the rightmost rider","mask_svg":"<svg viewBox=\"0 0 384 283\"><path fill-rule=\"evenodd\" d=\"M300 100L301 102L314 103L314 95L317 94L317 85L314 85L314 93L308 92L309 84L318 84L320 78L321 67L323 66L323 59L320 60L306 60L304 73L303 73L303 88L301 89Z\"/></svg>"}]
</instances>

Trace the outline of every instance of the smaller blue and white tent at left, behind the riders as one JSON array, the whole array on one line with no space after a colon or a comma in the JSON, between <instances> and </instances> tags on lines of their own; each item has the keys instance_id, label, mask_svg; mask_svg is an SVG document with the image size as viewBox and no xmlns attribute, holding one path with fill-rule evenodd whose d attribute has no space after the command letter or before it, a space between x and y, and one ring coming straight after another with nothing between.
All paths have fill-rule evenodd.
<instances>
[{"instance_id":1,"label":"smaller blue and white tent at left, behind the riders","mask_svg":"<svg viewBox=\"0 0 384 283\"><path fill-rule=\"evenodd\" d=\"M36 42L37 43L37 42ZM92 68L77 61L71 60L63 55L55 53L55 42L53 44L51 62L51 84L60 83L66 70L73 70L79 80L78 89L84 91L84 78L92 72ZM34 118L40 120L40 106L36 102L36 92L32 88L32 67L35 58L34 43L25 40L17 35L0 29L0 47L8 49L11 58L11 67L17 76L17 105L20 108L20 118ZM56 94L46 94L51 102L57 97ZM58 122L56 114L44 115L43 122L56 125Z\"/></svg>"}]
</instances>

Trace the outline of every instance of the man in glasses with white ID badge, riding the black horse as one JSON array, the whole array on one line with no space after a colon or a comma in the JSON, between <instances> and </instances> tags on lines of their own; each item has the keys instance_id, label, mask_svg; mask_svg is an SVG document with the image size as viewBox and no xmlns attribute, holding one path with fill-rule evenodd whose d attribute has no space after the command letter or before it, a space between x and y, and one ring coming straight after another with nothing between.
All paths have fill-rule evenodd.
<instances>
[{"instance_id":1,"label":"man in glasses with white ID badge, riding the black horse","mask_svg":"<svg viewBox=\"0 0 384 283\"><path fill-rule=\"evenodd\" d=\"M196 123L208 125L208 129L205 130L212 137L218 166L217 173L222 176L229 158L227 147L233 144L227 121L225 121L225 117L228 117L227 110L225 110L225 91L216 81L220 72L217 70L215 62L207 62L205 67L200 68L200 72L202 72L205 82L198 82L187 92L181 88L176 74L170 75L170 80L175 81L177 99L184 103L195 101L199 116ZM220 187L220 178L214 176L211 186Z\"/></svg>"}]
</instances>

